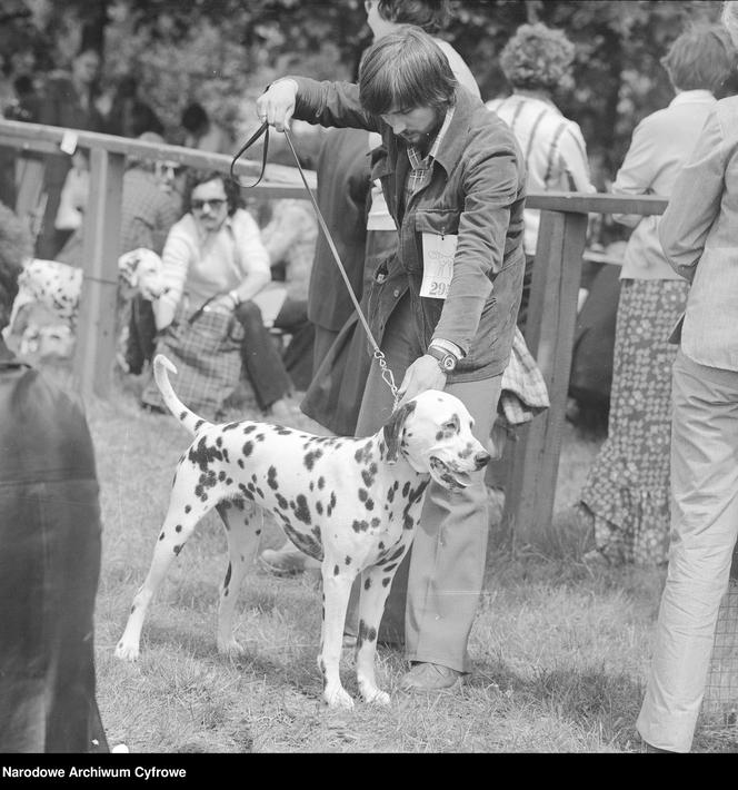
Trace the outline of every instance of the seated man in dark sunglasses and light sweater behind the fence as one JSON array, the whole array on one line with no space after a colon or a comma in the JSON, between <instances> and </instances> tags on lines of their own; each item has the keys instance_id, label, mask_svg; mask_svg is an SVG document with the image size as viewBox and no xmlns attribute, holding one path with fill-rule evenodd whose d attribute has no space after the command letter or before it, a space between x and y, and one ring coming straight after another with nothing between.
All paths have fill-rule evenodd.
<instances>
[{"instance_id":1,"label":"seated man in dark sunglasses and light sweater behind the fence","mask_svg":"<svg viewBox=\"0 0 738 790\"><path fill-rule=\"evenodd\" d=\"M259 226L240 207L238 186L220 172L190 174L183 206L161 255L168 290L153 305L157 329L171 324L180 299L192 314L216 297L209 309L232 312L243 326L241 358L259 407L286 417L292 382L252 302L271 279ZM273 326L289 330L282 312Z\"/></svg>"}]
</instances>

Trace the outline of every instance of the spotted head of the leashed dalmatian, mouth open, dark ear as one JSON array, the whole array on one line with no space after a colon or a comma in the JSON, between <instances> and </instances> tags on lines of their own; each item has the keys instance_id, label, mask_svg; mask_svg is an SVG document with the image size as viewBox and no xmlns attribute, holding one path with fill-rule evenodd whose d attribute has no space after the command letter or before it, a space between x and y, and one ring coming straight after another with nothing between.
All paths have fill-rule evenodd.
<instances>
[{"instance_id":1,"label":"spotted head of the leashed dalmatian, mouth open, dark ear","mask_svg":"<svg viewBox=\"0 0 738 790\"><path fill-rule=\"evenodd\" d=\"M445 488L466 488L471 473L490 461L471 433L473 419L459 398L438 389L413 397L385 425L387 460L402 455L416 472Z\"/></svg>"}]
</instances>

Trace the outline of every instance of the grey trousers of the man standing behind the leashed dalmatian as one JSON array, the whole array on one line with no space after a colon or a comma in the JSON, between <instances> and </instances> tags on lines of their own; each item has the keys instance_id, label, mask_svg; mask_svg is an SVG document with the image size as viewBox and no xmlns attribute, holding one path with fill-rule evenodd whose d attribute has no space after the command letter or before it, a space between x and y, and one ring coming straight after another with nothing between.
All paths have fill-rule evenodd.
<instances>
[{"instance_id":1,"label":"grey trousers of the man standing behind the leashed dalmatian","mask_svg":"<svg viewBox=\"0 0 738 790\"><path fill-rule=\"evenodd\" d=\"M402 299L382 340L387 364L399 384L420 349L409 326L410 300ZM475 418L475 435L486 441L497 412L501 376L452 384L447 392L460 397ZM376 433L390 417L393 398L372 363L361 403L357 435ZM406 644L410 661L468 671L466 645L476 614L485 573L488 537L483 472L463 492L448 492L431 482L420 526L400 563L379 629L380 642ZM425 524L425 529L423 529ZM359 585L355 584L346 631L356 633Z\"/></svg>"}]
</instances>

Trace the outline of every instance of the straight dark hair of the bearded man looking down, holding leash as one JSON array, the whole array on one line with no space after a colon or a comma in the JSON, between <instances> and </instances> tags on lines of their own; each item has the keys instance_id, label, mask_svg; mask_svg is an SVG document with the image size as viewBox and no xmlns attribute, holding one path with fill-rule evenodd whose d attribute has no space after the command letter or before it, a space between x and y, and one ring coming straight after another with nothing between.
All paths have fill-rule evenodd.
<instances>
[{"instance_id":1,"label":"straight dark hair of the bearded man looking down, holding leash","mask_svg":"<svg viewBox=\"0 0 738 790\"><path fill-rule=\"evenodd\" d=\"M372 115L417 107L446 110L453 103L456 87L446 55L413 26L382 37L367 50L359 68L361 106Z\"/></svg>"}]
</instances>

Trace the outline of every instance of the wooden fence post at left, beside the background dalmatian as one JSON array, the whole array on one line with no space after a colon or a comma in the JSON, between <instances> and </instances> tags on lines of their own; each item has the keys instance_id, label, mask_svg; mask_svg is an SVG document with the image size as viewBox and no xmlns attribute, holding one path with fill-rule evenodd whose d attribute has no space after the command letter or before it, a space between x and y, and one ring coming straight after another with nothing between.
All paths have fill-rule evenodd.
<instances>
[{"instance_id":1,"label":"wooden fence post at left, beside the background dalmatian","mask_svg":"<svg viewBox=\"0 0 738 790\"><path fill-rule=\"evenodd\" d=\"M74 375L83 395L107 397L116 358L118 248L126 157L90 152L90 194L84 213L83 282Z\"/></svg>"}]
</instances>

